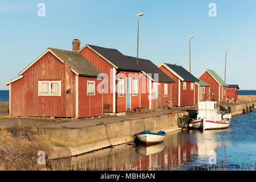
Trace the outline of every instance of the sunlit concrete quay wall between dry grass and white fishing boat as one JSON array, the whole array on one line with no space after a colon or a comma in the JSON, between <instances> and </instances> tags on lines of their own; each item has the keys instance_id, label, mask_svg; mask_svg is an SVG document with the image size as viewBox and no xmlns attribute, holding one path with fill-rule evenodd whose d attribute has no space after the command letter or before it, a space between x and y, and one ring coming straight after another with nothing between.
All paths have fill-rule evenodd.
<instances>
[{"instance_id":1,"label":"sunlit concrete quay wall between dry grass and white fishing boat","mask_svg":"<svg viewBox=\"0 0 256 182\"><path fill-rule=\"evenodd\" d=\"M161 130L166 133L181 130L177 126L177 117L164 114L165 112L144 113L123 118L102 118L99 121L103 123L96 123L96 125L94 123L93 126L88 126L87 121L43 126L41 128L44 134L49 135L51 142L55 145L55 150L49 159L76 156L100 148L132 142L135 140L135 134L144 130L152 132ZM178 115L180 117L188 115L188 112L178 113ZM120 119L121 121L118 121Z\"/></svg>"}]
</instances>

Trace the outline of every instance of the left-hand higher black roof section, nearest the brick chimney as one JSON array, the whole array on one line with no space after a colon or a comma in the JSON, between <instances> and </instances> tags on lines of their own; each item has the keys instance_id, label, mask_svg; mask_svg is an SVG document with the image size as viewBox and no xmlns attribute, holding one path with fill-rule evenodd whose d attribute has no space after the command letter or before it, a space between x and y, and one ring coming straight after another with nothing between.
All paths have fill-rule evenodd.
<instances>
[{"instance_id":1,"label":"left-hand higher black roof section, nearest the brick chimney","mask_svg":"<svg viewBox=\"0 0 256 182\"><path fill-rule=\"evenodd\" d=\"M137 62L131 63L131 61L128 60L128 57L124 56L123 53L119 52L117 49L93 46L90 44L87 45L111 61L111 63L115 64L121 70L141 71L141 68L137 66ZM142 71L144 70L142 69Z\"/></svg>"}]
</instances>

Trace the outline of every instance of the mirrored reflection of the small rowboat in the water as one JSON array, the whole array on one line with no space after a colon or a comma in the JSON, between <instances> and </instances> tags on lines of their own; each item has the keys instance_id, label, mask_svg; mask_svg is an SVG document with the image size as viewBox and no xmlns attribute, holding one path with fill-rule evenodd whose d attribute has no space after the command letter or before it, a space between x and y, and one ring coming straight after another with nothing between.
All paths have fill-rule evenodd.
<instances>
[{"instance_id":1,"label":"mirrored reflection of the small rowboat in the water","mask_svg":"<svg viewBox=\"0 0 256 182\"><path fill-rule=\"evenodd\" d=\"M161 142L161 143L157 143L157 144L152 144L150 146L144 144L144 143L141 143L139 144L139 146L137 146L136 148L136 152L138 154L141 154L141 155L153 155L153 154L158 154L160 153L161 151L165 150L165 144L164 142Z\"/></svg>"}]
</instances>

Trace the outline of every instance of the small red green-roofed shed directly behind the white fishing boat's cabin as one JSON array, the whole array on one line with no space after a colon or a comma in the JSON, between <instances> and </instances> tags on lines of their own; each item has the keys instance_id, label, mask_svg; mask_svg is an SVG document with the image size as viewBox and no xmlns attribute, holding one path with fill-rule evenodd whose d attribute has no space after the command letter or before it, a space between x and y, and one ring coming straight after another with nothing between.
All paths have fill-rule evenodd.
<instances>
[{"instance_id":1,"label":"small red green-roofed shed directly behind the white fishing boat's cabin","mask_svg":"<svg viewBox=\"0 0 256 182\"><path fill-rule=\"evenodd\" d=\"M198 104L198 101L210 101L210 88L211 85L198 79L198 82L195 82L195 104Z\"/></svg>"}]
</instances>

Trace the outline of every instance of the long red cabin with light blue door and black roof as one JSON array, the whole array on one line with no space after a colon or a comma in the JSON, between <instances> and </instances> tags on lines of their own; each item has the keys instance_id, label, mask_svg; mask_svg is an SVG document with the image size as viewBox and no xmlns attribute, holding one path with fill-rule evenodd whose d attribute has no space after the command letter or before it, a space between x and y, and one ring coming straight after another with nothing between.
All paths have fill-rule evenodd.
<instances>
[{"instance_id":1,"label":"long red cabin with light blue door and black roof","mask_svg":"<svg viewBox=\"0 0 256 182\"><path fill-rule=\"evenodd\" d=\"M135 107L155 109L161 106L161 101L164 102L162 97L157 98L157 94L152 91L153 85L155 85L152 83L155 82L152 75L161 70L151 61L140 59L137 65L137 60L135 61L134 57L125 56L117 49L90 44L86 44L79 52L105 74L103 104L109 105L111 112L131 111ZM164 85L166 82L170 87L170 83L174 82L165 73L161 72L160 75L160 80L163 79L160 85ZM155 97L149 97L153 94Z\"/></svg>"}]
</instances>

